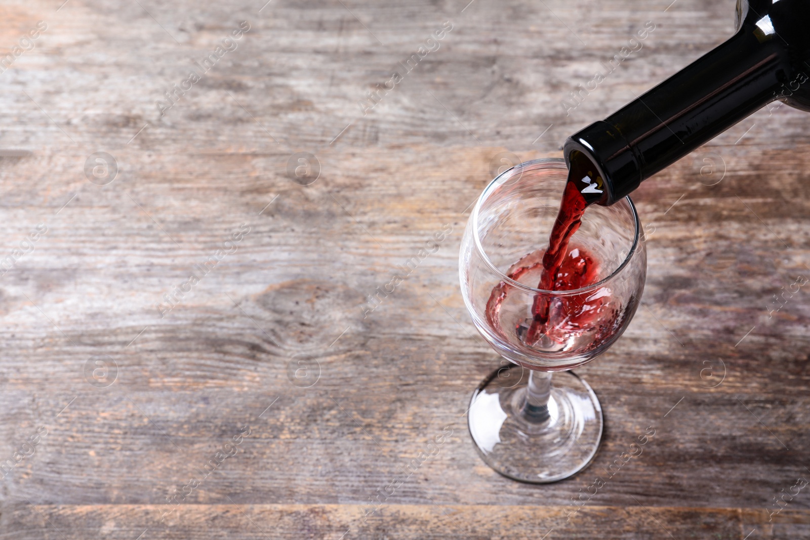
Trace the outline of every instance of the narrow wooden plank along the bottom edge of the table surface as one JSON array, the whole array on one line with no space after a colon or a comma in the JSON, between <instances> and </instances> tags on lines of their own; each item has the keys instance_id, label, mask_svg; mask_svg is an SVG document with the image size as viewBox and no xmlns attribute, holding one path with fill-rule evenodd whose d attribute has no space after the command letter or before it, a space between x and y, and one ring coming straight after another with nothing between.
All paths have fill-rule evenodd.
<instances>
[{"instance_id":1,"label":"narrow wooden plank along the bottom edge of the table surface","mask_svg":"<svg viewBox=\"0 0 810 540\"><path fill-rule=\"evenodd\" d=\"M587 507L571 520L555 506L396 504L363 519L350 504L186 504L163 521L160 506L26 504L5 517L15 538L799 538L807 511L768 522L740 508ZM75 525L83 529L76 530ZM75 532L74 532L75 531ZM505 531L509 531L506 533ZM60 535L62 532L64 535Z\"/></svg>"}]
</instances>

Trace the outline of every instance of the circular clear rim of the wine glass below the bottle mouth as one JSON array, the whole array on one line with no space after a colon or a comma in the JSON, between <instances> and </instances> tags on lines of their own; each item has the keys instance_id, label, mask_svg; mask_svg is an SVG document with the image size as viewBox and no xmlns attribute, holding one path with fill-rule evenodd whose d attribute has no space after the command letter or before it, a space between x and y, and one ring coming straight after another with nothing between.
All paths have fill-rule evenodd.
<instances>
[{"instance_id":1,"label":"circular clear rim of the wine glass below the bottle mouth","mask_svg":"<svg viewBox=\"0 0 810 540\"><path fill-rule=\"evenodd\" d=\"M493 193L496 193L497 189L505 187L506 185L510 185L509 179L512 176L518 175L518 177L522 176L523 173L535 170L535 169L543 169L543 168L556 168L556 169L565 169L568 170L568 167L565 163L565 159L561 158L543 158L543 159L532 159L531 161L525 161L522 164L517 164L513 168L501 172L498 176L495 177L493 181L489 183L489 185L484 189L484 191L480 194L478 201L475 202L475 206L472 209L471 214L471 223L472 223L472 236L475 240L475 249L477 249L480 257L484 260L490 270L497 274L501 281L507 283L511 287L515 287L521 289L522 291L530 292L532 294L540 294L540 295L550 295L550 296L575 296L581 295L586 292L592 292L599 287L603 287L605 284L615 279L616 276L624 270L625 266L628 265L630 259L633 258L635 255L639 241L641 240L641 223L638 219L638 213L636 211L636 206L633 204L633 200L626 196L625 199L629 206L630 213L633 215L633 244L631 245L627 255L621 261L619 266L616 266L611 274L609 274L606 278L600 279L596 283L592 283L586 287L580 287L578 289L570 289L568 291L548 291L546 289L538 289L536 287L529 287L523 283L518 282L516 279L510 278L508 275L504 274L501 270L495 266L495 263L489 258L487 252L484 250L484 245L481 244L481 238L479 236L479 218L480 218L480 210L481 206L492 196Z\"/></svg>"}]
</instances>

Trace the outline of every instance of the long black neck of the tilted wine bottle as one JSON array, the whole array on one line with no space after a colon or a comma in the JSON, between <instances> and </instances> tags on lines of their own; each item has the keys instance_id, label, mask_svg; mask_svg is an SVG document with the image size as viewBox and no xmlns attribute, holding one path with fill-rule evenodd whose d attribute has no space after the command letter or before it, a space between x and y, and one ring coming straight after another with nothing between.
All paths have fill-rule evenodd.
<instances>
[{"instance_id":1,"label":"long black neck of the tilted wine bottle","mask_svg":"<svg viewBox=\"0 0 810 540\"><path fill-rule=\"evenodd\" d=\"M772 31L773 28L771 27ZM748 20L706 53L616 113L573 134L566 159L582 151L599 168L609 205L646 178L776 99L793 75L786 45Z\"/></svg>"}]
</instances>

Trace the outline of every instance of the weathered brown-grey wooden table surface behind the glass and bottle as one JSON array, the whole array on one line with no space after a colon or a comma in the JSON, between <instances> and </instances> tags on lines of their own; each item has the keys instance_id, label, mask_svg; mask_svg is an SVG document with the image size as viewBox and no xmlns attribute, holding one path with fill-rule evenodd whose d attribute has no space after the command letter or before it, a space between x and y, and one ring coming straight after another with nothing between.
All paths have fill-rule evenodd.
<instances>
[{"instance_id":1,"label":"weathered brown-grey wooden table surface behind the glass and bottle","mask_svg":"<svg viewBox=\"0 0 810 540\"><path fill-rule=\"evenodd\" d=\"M464 415L498 359L458 245L499 159L561 155L731 36L734 2L264 1L3 3L0 536L810 537L810 489L774 503L810 478L810 116L787 106L634 193L646 291L579 370L589 469L502 478Z\"/></svg>"}]
</instances>

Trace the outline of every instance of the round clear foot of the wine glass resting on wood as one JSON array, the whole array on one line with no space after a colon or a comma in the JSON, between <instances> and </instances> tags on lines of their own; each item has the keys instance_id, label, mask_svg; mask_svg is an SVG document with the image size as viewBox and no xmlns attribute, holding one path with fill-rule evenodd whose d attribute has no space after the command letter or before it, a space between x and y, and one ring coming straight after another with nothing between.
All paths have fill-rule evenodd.
<instances>
[{"instance_id":1,"label":"round clear foot of the wine glass resting on wood","mask_svg":"<svg viewBox=\"0 0 810 540\"><path fill-rule=\"evenodd\" d=\"M492 372L472 394L467 424L481 457L527 483L569 478L590 465L602 440L602 407L573 372L555 372L547 407L526 405L530 370Z\"/></svg>"}]
</instances>

